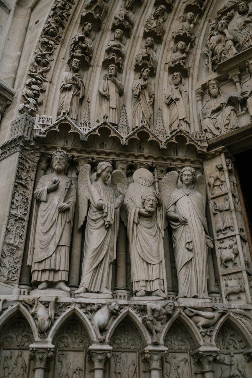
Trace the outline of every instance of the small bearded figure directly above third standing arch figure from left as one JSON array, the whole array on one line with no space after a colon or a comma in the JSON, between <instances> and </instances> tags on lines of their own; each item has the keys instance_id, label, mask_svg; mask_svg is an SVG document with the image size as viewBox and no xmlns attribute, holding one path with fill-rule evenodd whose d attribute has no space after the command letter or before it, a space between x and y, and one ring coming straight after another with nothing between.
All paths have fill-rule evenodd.
<instances>
[{"instance_id":1,"label":"small bearded figure directly above third standing arch figure from left","mask_svg":"<svg viewBox=\"0 0 252 378\"><path fill-rule=\"evenodd\" d=\"M136 55L136 63L134 66L135 71L141 71L142 68L149 68L150 74L156 72L156 53L153 48L155 41L152 37L148 37L144 42L144 48L142 48Z\"/></svg>"}]
</instances>

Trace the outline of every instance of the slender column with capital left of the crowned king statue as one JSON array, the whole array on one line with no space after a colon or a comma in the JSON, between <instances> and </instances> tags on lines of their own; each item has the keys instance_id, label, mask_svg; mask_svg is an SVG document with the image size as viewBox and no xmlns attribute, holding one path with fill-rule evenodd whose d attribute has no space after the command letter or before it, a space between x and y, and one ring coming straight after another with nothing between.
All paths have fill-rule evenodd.
<instances>
[{"instance_id":1,"label":"slender column with capital left of the crowned king statue","mask_svg":"<svg viewBox=\"0 0 252 378\"><path fill-rule=\"evenodd\" d=\"M39 163L37 165L37 173L36 173L36 177L35 177L33 191L36 189L40 178L43 175L45 175L46 168L48 167L50 160L51 160L51 155L42 154L40 156L40 160L39 160ZM28 222L27 233L26 233L26 241L25 241L25 249L24 249L24 254L23 254L22 270L21 270L21 273L20 273L20 280L19 280L19 287L20 287L20 289L23 289L23 290L30 290L31 289L31 269L28 268L28 266L27 266L27 259L28 259L29 240L30 240L30 235L31 235L31 224L32 224L33 212L34 212L34 196L32 195L31 211L30 211L29 222ZM26 294L26 292L24 291L23 294Z\"/></svg>"}]
</instances>

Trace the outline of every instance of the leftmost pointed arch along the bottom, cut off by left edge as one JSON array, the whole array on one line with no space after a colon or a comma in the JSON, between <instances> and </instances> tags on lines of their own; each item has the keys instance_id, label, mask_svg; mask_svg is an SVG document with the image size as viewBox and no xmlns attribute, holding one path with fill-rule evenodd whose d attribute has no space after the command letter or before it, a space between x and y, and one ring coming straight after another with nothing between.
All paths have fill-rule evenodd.
<instances>
[{"instance_id":1,"label":"leftmost pointed arch along the bottom, cut off by left edge","mask_svg":"<svg viewBox=\"0 0 252 378\"><path fill-rule=\"evenodd\" d=\"M36 323L32 318L31 314L28 310L26 310L25 306L20 304L19 302L12 305L10 308L5 310L3 314L0 316L0 329L5 325L13 316L20 314L22 318L27 320L29 326L31 327L31 331L34 337L34 341L39 341L39 333L37 330Z\"/></svg>"}]
</instances>

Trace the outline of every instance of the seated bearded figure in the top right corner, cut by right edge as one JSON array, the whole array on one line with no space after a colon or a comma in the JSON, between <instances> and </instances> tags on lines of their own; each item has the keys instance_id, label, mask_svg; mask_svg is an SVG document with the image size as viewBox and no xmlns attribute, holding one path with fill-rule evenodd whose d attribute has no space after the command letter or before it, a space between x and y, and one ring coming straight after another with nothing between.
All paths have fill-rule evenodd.
<instances>
[{"instance_id":1,"label":"seated bearded figure in the top right corner, cut by right edge","mask_svg":"<svg viewBox=\"0 0 252 378\"><path fill-rule=\"evenodd\" d=\"M239 50L243 51L252 46L252 13L246 1L237 4L237 17L233 25L233 35Z\"/></svg>"}]
</instances>

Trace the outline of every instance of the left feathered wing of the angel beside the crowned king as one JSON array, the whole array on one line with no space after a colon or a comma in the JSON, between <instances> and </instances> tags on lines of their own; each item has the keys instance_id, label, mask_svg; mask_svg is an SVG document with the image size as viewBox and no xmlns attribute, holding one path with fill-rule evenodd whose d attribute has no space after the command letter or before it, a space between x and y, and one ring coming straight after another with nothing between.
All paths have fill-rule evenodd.
<instances>
[{"instance_id":1,"label":"left feathered wing of the angel beside the crowned king","mask_svg":"<svg viewBox=\"0 0 252 378\"><path fill-rule=\"evenodd\" d=\"M79 222L78 228L80 228L86 218L88 212L88 200L90 199L90 186L91 186L91 166L85 164L81 167L78 176L78 200L79 200Z\"/></svg>"}]
</instances>

